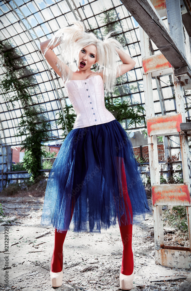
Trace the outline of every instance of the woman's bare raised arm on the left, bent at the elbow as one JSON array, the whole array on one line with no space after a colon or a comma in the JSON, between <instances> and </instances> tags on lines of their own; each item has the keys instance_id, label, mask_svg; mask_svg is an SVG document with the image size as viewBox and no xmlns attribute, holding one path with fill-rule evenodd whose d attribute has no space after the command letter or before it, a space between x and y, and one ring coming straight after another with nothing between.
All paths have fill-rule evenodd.
<instances>
[{"instance_id":1,"label":"woman's bare raised arm on the left, bent at the elbow","mask_svg":"<svg viewBox=\"0 0 191 291\"><path fill-rule=\"evenodd\" d=\"M52 45L52 46L48 46L48 44L50 43L51 39L45 40L43 42L40 43L40 47L41 47L41 51L44 54L46 48L48 47L44 57L47 60L47 62L49 63L49 65L51 66L51 68L60 76L62 77L62 71L60 66L58 67L57 65L60 64L60 59L57 57L57 55L53 52L53 49L55 47L57 47L59 45L59 43L56 43L56 45ZM66 69L68 71L71 71L70 68L65 65L64 63L62 63L63 66L66 67Z\"/></svg>"}]
</instances>

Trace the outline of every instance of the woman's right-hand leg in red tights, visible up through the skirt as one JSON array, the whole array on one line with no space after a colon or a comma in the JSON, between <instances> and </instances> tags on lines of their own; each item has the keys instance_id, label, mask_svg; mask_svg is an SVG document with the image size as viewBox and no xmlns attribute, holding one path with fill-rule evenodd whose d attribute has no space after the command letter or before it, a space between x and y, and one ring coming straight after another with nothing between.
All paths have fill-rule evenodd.
<instances>
[{"instance_id":1,"label":"woman's right-hand leg in red tights, visible up through the skirt","mask_svg":"<svg viewBox=\"0 0 191 291\"><path fill-rule=\"evenodd\" d=\"M122 193L124 197L125 209L127 219L125 214L122 215L120 219L120 233L123 244L123 257L121 265L121 273L123 275L131 275L134 268L133 252L132 252L132 219L133 212L131 207L131 201L127 191L127 180L125 175L125 164L124 159L118 157L118 162L120 164L120 178L122 181ZM118 219L119 222L119 219ZM125 225L126 224L126 225Z\"/></svg>"}]
</instances>

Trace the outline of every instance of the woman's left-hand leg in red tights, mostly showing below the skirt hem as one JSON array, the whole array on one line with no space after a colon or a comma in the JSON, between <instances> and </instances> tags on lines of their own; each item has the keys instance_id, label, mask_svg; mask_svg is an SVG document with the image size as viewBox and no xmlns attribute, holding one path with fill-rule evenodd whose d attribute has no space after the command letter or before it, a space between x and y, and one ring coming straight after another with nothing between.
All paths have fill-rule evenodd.
<instances>
[{"instance_id":1,"label":"woman's left-hand leg in red tights, mostly showing below the skirt hem","mask_svg":"<svg viewBox=\"0 0 191 291\"><path fill-rule=\"evenodd\" d=\"M70 221L73 216L73 201L72 201L72 209L71 209L71 217ZM64 233L58 233L57 229L55 228L55 244L54 244L54 250L51 260L51 271L54 273L61 272L62 271L62 250L63 250L63 244L66 237L67 231Z\"/></svg>"}]
</instances>

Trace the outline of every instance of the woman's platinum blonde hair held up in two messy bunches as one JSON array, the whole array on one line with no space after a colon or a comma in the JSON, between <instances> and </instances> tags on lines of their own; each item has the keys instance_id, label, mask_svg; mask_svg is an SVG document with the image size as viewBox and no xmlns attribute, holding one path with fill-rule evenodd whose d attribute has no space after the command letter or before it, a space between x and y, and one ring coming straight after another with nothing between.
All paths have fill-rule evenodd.
<instances>
[{"instance_id":1,"label":"woman's platinum blonde hair held up in two messy bunches","mask_svg":"<svg viewBox=\"0 0 191 291\"><path fill-rule=\"evenodd\" d=\"M82 22L73 22L73 25L59 29L49 42L48 47L58 45L60 47L59 63L57 67L62 72L64 83L71 80L76 56L83 47L95 45L97 47L97 70L104 75L104 87L106 92L112 92L116 84L116 75L120 72L120 58L116 52L116 48L123 50L122 45L118 40L110 37L113 32L108 33L104 40L95 36L94 33L85 32L85 27ZM44 54L46 53L46 48ZM71 70L67 70L66 65Z\"/></svg>"}]
</instances>

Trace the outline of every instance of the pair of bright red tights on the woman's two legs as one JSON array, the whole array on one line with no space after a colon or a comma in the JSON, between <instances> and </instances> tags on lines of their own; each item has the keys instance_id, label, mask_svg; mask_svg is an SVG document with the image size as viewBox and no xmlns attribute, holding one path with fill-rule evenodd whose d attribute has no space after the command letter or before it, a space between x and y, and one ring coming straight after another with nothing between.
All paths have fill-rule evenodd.
<instances>
[{"instance_id":1,"label":"pair of bright red tights on the woman's two legs","mask_svg":"<svg viewBox=\"0 0 191 291\"><path fill-rule=\"evenodd\" d=\"M131 202L129 199L129 195L127 192L127 182L126 182L126 175L125 175L125 166L124 161L121 159L121 181L122 181L122 192L124 198L126 197L127 203L125 203L125 212L127 215L128 223L132 223L132 208ZM125 200L125 199L124 199ZM72 211L71 211L71 219L73 215L73 204L72 204ZM124 223L125 214L120 219L120 233L122 238L123 244L123 256L122 256L122 266L121 266L121 273L124 275L131 275L133 272L134 262L133 262L133 252L132 252L132 224ZM119 219L118 219L119 221ZM52 255L51 261L51 271L52 272L61 272L62 271L62 248L64 244L64 240L66 237L66 232L58 233L55 229L55 245Z\"/></svg>"}]
</instances>

